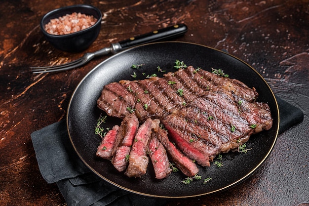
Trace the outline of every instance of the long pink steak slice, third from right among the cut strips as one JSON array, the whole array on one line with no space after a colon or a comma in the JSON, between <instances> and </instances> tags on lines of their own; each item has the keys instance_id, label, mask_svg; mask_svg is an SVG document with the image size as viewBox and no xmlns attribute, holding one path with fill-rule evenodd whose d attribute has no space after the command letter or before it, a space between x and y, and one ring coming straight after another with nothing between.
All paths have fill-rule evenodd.
<instances>
[{"instance_id":1,"label":"long pink steak slice, third from right among the cut strips","mask_svg":"<svg viewBox=\"0 0 309 206\"><path fill-rule=\"evenodd\" d=\"M141 177L147 171L149 162L147 151L152 133L152 123L153 121L151 119L147 119L145 123L139 127L135 135L130 151L129 165L124 172L128 177Z\"/></svg>"}]
</instances>

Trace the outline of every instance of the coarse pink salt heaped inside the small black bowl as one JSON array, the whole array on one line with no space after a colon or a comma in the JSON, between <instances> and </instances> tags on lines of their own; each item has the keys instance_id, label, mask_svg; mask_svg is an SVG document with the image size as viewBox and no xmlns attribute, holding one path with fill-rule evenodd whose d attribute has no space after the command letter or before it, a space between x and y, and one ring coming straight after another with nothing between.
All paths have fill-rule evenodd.
<instances>
[{"instance_id":1,"label":"coarse pink salt heaped inside the small black bowl","mask_svg":"<svg viewBox=\"0 0 309 206\"><path fill-rule=\"evenodd\" d=\"M59 18L51 19L45 25L45 31L52 35L66 35L91 27L97 21L98 20L92 15L74 12Z\"/></svg>"}]
</instances>

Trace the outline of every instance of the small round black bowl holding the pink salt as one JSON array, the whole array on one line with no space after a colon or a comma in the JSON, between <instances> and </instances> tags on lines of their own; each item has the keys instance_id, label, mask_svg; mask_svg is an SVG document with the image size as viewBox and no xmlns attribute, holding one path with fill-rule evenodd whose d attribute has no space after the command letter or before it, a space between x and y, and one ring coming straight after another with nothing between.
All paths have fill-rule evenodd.
<instances>
[{"instance_id":1,"label":"small round black bowl holding the pink salt","mask_svg":"<svg viewBox=\"0 0 309 206\"><path fill-rule=\"evenodd\" d=\"M45 25L51 19L55 19L66 14L72 14L73 12L92 15L98 21L87 29L66 35L52 35L45 31ZM41 19L40 27L46 39L57 49L68 52L79 52L88 48L90 44L97 39L101 29L101 19L102 13L98 8L87 4L79 4L57 8L46 13Z\"/></svg>"}]
</instances>

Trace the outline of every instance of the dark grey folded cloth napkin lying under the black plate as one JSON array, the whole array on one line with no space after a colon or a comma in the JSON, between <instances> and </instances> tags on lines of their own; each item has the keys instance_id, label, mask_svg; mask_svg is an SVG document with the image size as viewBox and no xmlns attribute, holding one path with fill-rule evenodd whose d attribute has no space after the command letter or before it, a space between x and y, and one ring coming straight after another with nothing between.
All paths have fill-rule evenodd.
<instances>
[{"instance_id":1,"label":"dark grey folded cloth napkin lying under the black plate","mask_svg":"<svg viewBox=\"0 0 309 206\"><path fill-rule=\"evenodd\" d=\"M301 122L304 114L276 98L281 133ZM77 156L65 120L33 132L31 138L43 178L58 185L68 206L163 206L167 203L120 190L94 174Z\"/></svg>"}]
</instances>

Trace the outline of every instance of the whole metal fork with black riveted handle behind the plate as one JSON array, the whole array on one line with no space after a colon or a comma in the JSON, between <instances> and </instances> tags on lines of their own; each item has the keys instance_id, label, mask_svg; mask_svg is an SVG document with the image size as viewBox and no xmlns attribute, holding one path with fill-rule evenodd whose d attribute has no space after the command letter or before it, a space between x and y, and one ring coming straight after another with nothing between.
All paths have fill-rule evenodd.
<instances>
[{"instance_id":1,"label":"whole metal fork with black riveted handle behind the plate","mask_svg":"<svg viewBox=\"0 0 309 206\"><path fill-rule=\"evenodd\" d=\"M105 47L92 53L85 53L81 58L62 65L45 66L45 67L30 67L34 74L47 72L61 72L80 67L89 62L94 57L106 55L109 53L116 54L117 52L143 43L154 41L163 41L185 34L188 28L185 24L177 24L171 27L166 27L144 35L132 37L127 40L112 43L110 47Z\"/></svg>"}]
</instances>

